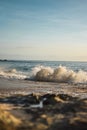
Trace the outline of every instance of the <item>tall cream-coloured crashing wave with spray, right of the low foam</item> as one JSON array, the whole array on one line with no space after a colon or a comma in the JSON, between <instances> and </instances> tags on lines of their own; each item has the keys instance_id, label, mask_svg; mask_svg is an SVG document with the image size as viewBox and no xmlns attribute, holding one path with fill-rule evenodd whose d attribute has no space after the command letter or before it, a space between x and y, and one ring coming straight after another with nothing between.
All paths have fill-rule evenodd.
<instances>
[{"instance_id":1,"label":"tall cream-coloured crashing wave with spray, right of the low foam","mask_svg":"<svg viewBox=\"0 0 87 130\"><path fill-rule=\"evenodd\" d=\"M87 83L87 72L82 70L75 72L61 65L55 69L51 67L38 66L33 69L33 73L33 78L37 81Z\"/></svg>"}]
</instances>

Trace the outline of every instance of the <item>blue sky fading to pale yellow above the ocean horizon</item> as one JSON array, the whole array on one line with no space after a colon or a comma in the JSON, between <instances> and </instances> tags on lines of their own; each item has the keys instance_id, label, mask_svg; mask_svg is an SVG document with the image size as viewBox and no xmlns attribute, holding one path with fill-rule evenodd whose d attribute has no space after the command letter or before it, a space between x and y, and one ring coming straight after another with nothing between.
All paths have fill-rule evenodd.
<instances>
[{"instance_id":1,"label":"blue sky fading to pale yellow above the ocean horizon","mask_svg":"<svg viewBox=\"0 0 87 130\"><path fill-rule=\"evenodd\" d=\"M0 0L0 59L87 61L87 0Z\"/></svg>"}]
</instances>

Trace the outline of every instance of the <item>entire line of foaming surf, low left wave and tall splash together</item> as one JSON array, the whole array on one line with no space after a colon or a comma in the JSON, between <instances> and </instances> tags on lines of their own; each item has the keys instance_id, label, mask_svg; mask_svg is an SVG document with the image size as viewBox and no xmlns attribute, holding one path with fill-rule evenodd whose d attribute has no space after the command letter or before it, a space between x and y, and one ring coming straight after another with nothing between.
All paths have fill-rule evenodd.
<instances>
[{"instance_id":1,"label":"entire line of foaming surf, low left wave and tall splash together","mask_svg":"<svg viewBox=\"0 0 87 130\"><path fill-rule=\"evenodd\" d=\"M87 72L74 71L65 66L57 68L36 66L29 72L17 71L16 69L0 68L0 77L8 79L29 79L35 81L58 82L58 83L87 83Z\"/></svg>"}]
</instances>

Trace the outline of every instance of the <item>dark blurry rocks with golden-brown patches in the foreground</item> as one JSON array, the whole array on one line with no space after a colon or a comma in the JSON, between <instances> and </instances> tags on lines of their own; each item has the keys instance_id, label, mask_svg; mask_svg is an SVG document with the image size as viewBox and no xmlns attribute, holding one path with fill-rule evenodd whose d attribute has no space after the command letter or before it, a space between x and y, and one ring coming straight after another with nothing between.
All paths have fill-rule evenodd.
<instances>
[{"instance_id":1,"label":"dark blurry rocks with golden-brown patches in the foreground","mask_svg":"<svg viewBox=\"0 0 87 130\"><path fill-rule=\"evenodd\" d=\"M41 101L43 107L30 107ZM0 130L87 130L87 99L67 94L29 94L3 97L0 103Z\"/></svg>"}]
</instances>

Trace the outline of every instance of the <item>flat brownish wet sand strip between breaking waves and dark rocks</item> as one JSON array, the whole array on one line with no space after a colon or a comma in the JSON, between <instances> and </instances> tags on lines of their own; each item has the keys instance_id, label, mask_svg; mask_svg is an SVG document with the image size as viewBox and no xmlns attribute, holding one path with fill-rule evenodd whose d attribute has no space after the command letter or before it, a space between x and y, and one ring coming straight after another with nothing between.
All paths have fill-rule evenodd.
<instances>
[{"instance_id":1,"label":"flat brownish wet sand strip between breaking waves and dark rocks","mask_svg":"<svg viewBox=\"0 0 87 130\"><path fill-rule=\"evenodd\" d=\"M87 98L87 84L38 82L28 80L0 79L0 95L55 93Z\"/></svg>"}]
</instances>

